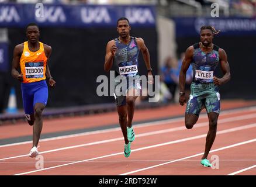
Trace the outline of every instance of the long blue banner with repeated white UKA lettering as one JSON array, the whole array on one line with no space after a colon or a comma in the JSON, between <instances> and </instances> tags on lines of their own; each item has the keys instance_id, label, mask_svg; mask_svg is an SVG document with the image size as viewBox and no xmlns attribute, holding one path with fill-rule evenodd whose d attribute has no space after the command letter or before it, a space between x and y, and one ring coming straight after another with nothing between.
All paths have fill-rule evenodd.
<instances>
[{"instance_id":1,"label":"long blue banner with repeated white UKA lettering","mask_svg":"<svg viewBox=\"0 0 256 187\"><path fill-rule=\"evenodd\" d=\"M154 6L0 4L0 27L112 27L120 17L134 27L154 27Z\"/></svg>"}]
</instances>

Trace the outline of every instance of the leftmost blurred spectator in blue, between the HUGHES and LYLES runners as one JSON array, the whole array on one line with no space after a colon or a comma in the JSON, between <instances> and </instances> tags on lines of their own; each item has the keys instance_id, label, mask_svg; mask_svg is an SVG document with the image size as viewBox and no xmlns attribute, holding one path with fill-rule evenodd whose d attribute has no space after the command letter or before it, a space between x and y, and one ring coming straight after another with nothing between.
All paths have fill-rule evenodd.
<instances>
[{"instance_id":1,"label":"leftmost blurred spectator in blue, between the HUGHES and LYLES runners","mask_svg":"<svg viewBox=\"0 0 256 187\"><path fill-rule=\"evenodd\" d=\"M174 98L175 89L177 87L177 83L174 81L175 78L175 70L177 69L177 59L174 57L167 57L164 67L161 68L161 82L169 89L171 93L171 98ZM164 88L164 85L160 85L160 88Z\"/></svg>"}]
</instances>

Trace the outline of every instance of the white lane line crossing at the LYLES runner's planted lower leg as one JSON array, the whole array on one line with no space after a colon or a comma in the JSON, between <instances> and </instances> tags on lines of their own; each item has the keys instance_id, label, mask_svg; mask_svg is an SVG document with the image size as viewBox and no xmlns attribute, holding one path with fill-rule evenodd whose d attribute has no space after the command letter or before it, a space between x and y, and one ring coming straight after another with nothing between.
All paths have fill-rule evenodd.
<instances>
[{"instance_id":1,"label":"white lane line crossing at the LYLES runner's planted lower leg","mask_svg":"<svg viewBox=\"0 0 256 187\"><path fill-rule=\"evenodd\" d=\"M224 149L231 148L231 147L241 146L241 145L244 145L244 144L252 143L252 142L254 142L254 141L256 141L256 138L254 138L254 139L252 139L252 140L248 140L248 141L242 141L241 143L233 144L233 145L230 145L230 146L217 148L216 150L210 151L210 153L213 153L213 152L216 152L216 151L220 151L220 150L224 150ZM145 171L145 170L147 170L147 169L160 167L160 166L162 166L162 165L171 164L171 163L173 163L173 162L178 162L178 161L186 160L186 159L188 159L188 158L198 157L198 156L203 155L203 154L204 154L204 153L199 153L199 154L191 155L191 156L189 156L189 157L179 158L179 159L177 159L177 160L165 162L165 163L162 163L162 164L153 165L153 166L147 167L147 168L137 169L137 170L130 171L130 172L126 172L126 173L124 173L124 174L119 174L119 175L134 174L134 173L136 173L136 172Z\"/></svg>"}]
</instances>

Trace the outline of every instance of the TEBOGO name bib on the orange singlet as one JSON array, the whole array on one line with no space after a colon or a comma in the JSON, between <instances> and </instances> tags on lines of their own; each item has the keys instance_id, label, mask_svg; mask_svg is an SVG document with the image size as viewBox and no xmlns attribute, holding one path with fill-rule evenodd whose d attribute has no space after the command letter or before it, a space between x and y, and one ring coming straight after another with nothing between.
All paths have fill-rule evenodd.
<instances>
[{"instance_id":1,"label":"TEBOGO name bib on the orange singlet","mask_svg":"<svg viewBox=\"0 0 256 187\"><path fill-rule=\"evenodd\" d=\"M44 63L25 63L26 78L42 78L44 76Z\"/></svg>"}]
</instances>

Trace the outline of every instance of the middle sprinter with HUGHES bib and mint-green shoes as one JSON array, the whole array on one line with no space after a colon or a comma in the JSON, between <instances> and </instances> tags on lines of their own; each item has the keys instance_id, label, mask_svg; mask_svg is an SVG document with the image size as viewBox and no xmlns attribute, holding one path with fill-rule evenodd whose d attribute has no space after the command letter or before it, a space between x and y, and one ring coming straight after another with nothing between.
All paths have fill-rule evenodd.
<instances>
[{"instance_id":1,"label":"middle sprinter with HUGHES bib and mint-green shoes","mask_svg":"<svg viewBox=\"0 0 256 187\"><path fill-rule=\"evenodd\" d=\"M127 18L117 20L117 32L119 37L110 40L106 46L104 70L110 71L115 67L115 99L119 123L124 137L124 156L131 153L130 144L135 139L132 127L134 106L136 98L141 92L139 76L139 53L141 51L148 71L148 83L153 84L152 69L150 66L150 53L141 38L130 36L131 26ZM117 77L117 75L120 75ZM117 93L117 86L123 84L119 78L126 79L126 89ZM112 81L112 80L110 80ZM120 86L121 87L121 86ZM127 119L128 117L128 119Z\"/></svg>"}]
</instances>

